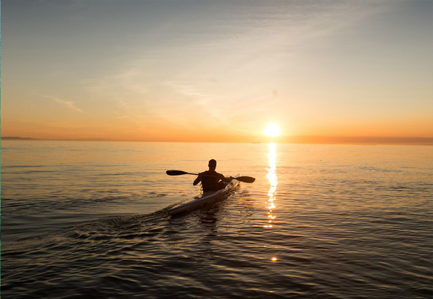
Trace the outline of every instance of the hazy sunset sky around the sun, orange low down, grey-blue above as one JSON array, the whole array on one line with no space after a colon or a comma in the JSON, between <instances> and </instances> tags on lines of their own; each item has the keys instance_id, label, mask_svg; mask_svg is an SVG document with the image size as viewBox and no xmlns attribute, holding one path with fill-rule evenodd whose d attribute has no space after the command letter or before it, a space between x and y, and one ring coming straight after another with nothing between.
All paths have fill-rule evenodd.
<instances>
[{"instance_id":1,"label":"hazy sunset sky around the sun, orange low down, grey-blue above","mask_svg":"<svg viewBox=\"0 0 433 299\"><path fill-rule=\"evenodd\" d=\"M2 1L1 135L433 137L433 2Z\"/></svg>"}]
</instances>

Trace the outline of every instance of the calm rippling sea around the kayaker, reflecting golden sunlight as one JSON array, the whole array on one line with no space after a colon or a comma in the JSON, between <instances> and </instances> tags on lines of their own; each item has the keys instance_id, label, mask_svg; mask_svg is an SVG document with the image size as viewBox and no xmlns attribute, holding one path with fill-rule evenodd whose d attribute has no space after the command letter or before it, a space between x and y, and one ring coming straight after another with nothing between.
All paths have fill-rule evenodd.
<instances>
[{"instance_id":1,"label":"calm rippling sea around the kayaker, reflecting golden sunlight","mask_svg":"<svg viewBox=\"0 0 433 299\"><path fill-rule=\"evenodd\" d=\"M171 218L218 161L256 177ZM431 146L4 141L5 298L431 298Z\"/></svg>"}]
</instances>

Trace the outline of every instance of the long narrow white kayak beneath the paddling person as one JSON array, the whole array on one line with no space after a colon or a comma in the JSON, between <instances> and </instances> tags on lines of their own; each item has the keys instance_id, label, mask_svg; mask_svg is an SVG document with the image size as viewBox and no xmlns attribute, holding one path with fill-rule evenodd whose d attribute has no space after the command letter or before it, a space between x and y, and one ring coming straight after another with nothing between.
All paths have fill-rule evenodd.
<instances>
[{"instance_id":1,"label":"long narrow white kayak beneath the paddling person","mask_svg":"<svg viewBox=\"0 0 433 299\"><path fill-rule=\"evenodd\" d=\"M239 177L240 174L236 174L233 177ZM236 188L239 185L239 181L232 180L230 183L226 185L226 188L217 190L217 191L208 191L203 192L203 194L197 195L194 198L182 202L181 204L172 207L169 211L167 211L170 215L176 215L180 213L189 212L192 210L196 210L205 204L216 202L220 199L226 198L230 194L230 190Z\"/></svg>"}]
</instances>

